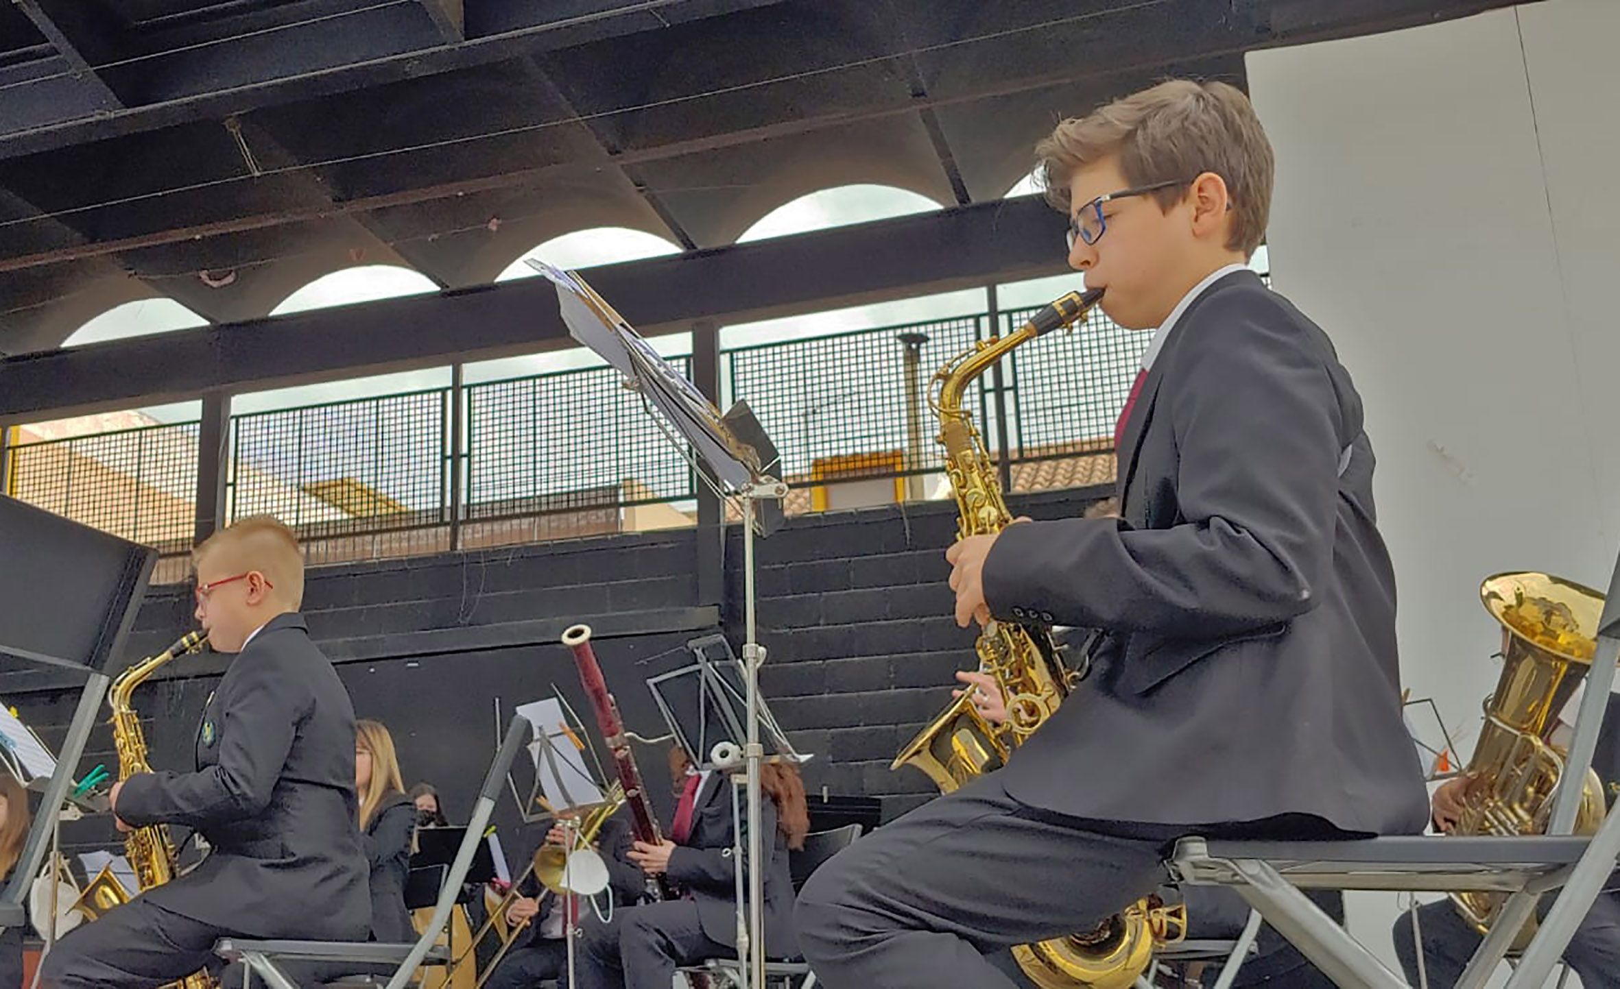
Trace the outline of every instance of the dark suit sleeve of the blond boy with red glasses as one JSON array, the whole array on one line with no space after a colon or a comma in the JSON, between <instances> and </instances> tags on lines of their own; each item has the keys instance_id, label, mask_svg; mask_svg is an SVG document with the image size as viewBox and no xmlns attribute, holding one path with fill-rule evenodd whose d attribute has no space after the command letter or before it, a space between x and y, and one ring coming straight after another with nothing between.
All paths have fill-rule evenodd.
<instances>
[{"instance_id":1,"label":"dark suit sleeve of the blond boy with red glasses","mask_svg":"<svg viewBox=\"0 0 1620 989\"><path fill-rule=\"evenodd\" d=\"M118 817L206 829L264 811L298 725L314 704L309 688L269 649L251 659L220 712L219 762L199 772L149 772L118 792Z\"/></svg>"}]
</instances>

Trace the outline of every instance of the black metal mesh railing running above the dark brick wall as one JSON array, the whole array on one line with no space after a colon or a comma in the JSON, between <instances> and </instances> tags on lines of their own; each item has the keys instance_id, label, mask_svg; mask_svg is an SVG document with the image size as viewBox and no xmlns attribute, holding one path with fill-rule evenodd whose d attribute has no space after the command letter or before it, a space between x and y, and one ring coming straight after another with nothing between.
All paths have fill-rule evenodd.
<instances>
[{"instance_id":1,"label":"black metal mesh railing running above the dark brick wall","mask_svg":"<svg viewBox=\"0 0 1620 989\"><path fill-rule=\"evenodd\" d=\"M863 499L928 497L941 469L933 372L1030 312L729 348L719 354L721 401L747 398L776 442L776 473L795 489L789 511L849 503L828 492L855 482L865 482ZM1097 312L1072 333L1013 351L978 380L975 418L1014 490L1111 479L1113 422L1147 342ZM690 358L674 363L690 374ZM311 562L695 518L684 450L609 367L465 387L457 377L449 388L243 413L228 432L227 518L275 515L300 533ZM196 521L198 435L198 422L94 435L23 427L3 447L0 478L8 494L183 557Z\"/></svg>"}]
</instances>

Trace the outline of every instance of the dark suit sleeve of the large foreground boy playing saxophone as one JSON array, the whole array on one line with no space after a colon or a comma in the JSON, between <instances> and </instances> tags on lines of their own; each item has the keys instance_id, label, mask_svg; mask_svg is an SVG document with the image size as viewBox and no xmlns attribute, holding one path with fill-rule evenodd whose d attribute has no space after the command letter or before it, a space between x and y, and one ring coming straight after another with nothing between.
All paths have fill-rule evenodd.
<instances>
[{"instance_id":1,"label":"dark suit sleeve of the large foreground boy playing saxophone","mask_svg":"<svg viewBox=\"0 0 1620 989\"><path fill-rule=\"evenodd\" d=\"M1322 346L1247 293L1210 298L1183 330L1194 335L1155 403L1174 431L1179 524L1008 526L983 571L993 615L1019 607L1059 625L1213 638L1315 607L1348 444Z\"/></svg>"}]
</instances>

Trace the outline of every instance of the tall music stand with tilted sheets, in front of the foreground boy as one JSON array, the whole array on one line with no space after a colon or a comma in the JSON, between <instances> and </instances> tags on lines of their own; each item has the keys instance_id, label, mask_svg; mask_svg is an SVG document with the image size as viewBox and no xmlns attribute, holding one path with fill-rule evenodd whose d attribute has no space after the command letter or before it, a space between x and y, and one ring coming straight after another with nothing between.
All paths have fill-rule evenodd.
<instances>
[{"instance_id":1,"label":"tall music stand with tilted sheets, in front of the foreground boy","mask_svg":"<svg viewBox=\"0 0 1620 989\"><path fill-rule=\"evenodd\" d=\"M765 753L760 746L760 667L765 649L758 643L755 622L753 586L753 537L760 520L758 503L787 495L787 486L766 474L770 461L760 450L742 440L719 410L697 387L664 361L658 351L630 327L596 290L585 283L578 272L564 272L541 261L526 259L528 265L551 280L557 288L557 308L569 333L596 351L625 377L625 384L654 406L661 416L654 422L667 422L684 439L697 456L714 474L714 481L700 469L697 476L721 499L735 499L742 505L742 601L747 636L742 646L745 672L745 736L742 758L748 767L748 861L761 860L760 835L760 762ZM669 431L666 429L666 434ZM680 442L671 437L679 447ZM765 874L750 869L748 942L765 944ZM752 989L765 989L765 955L739 945L740 961L748 971Z\"/></svg>"}]
</instances>

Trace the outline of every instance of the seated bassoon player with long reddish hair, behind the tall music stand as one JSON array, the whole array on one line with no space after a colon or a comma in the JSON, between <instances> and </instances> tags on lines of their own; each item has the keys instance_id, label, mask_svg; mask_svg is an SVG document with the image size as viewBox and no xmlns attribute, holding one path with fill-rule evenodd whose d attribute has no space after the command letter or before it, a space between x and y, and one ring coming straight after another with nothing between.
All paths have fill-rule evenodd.
<instances>
[{"instance_id":1,"label":"seated bassoon player with long reddish hair, behind the tall music stand","mask_svg":"<svg viewBox=\"0 0 1620 989\"><path fill-rule=\"evenodd\" d=\"M637 842L630 860L648 876L667 876L682 897L632 906L591 931L577 965L580 989L669 989L679 966L735 957L731 779L723 772L697 772L679 748L671 753L671 770L680 783L680 800L669 837L659 845ZM786 958L799 950L787 850L804 847L810 811L797 767L766 762L760 767L760 783L766 798L760 806L761 826L773 838L763 842L765 952L770 958Z\"/></svg>"}]
</instances>

